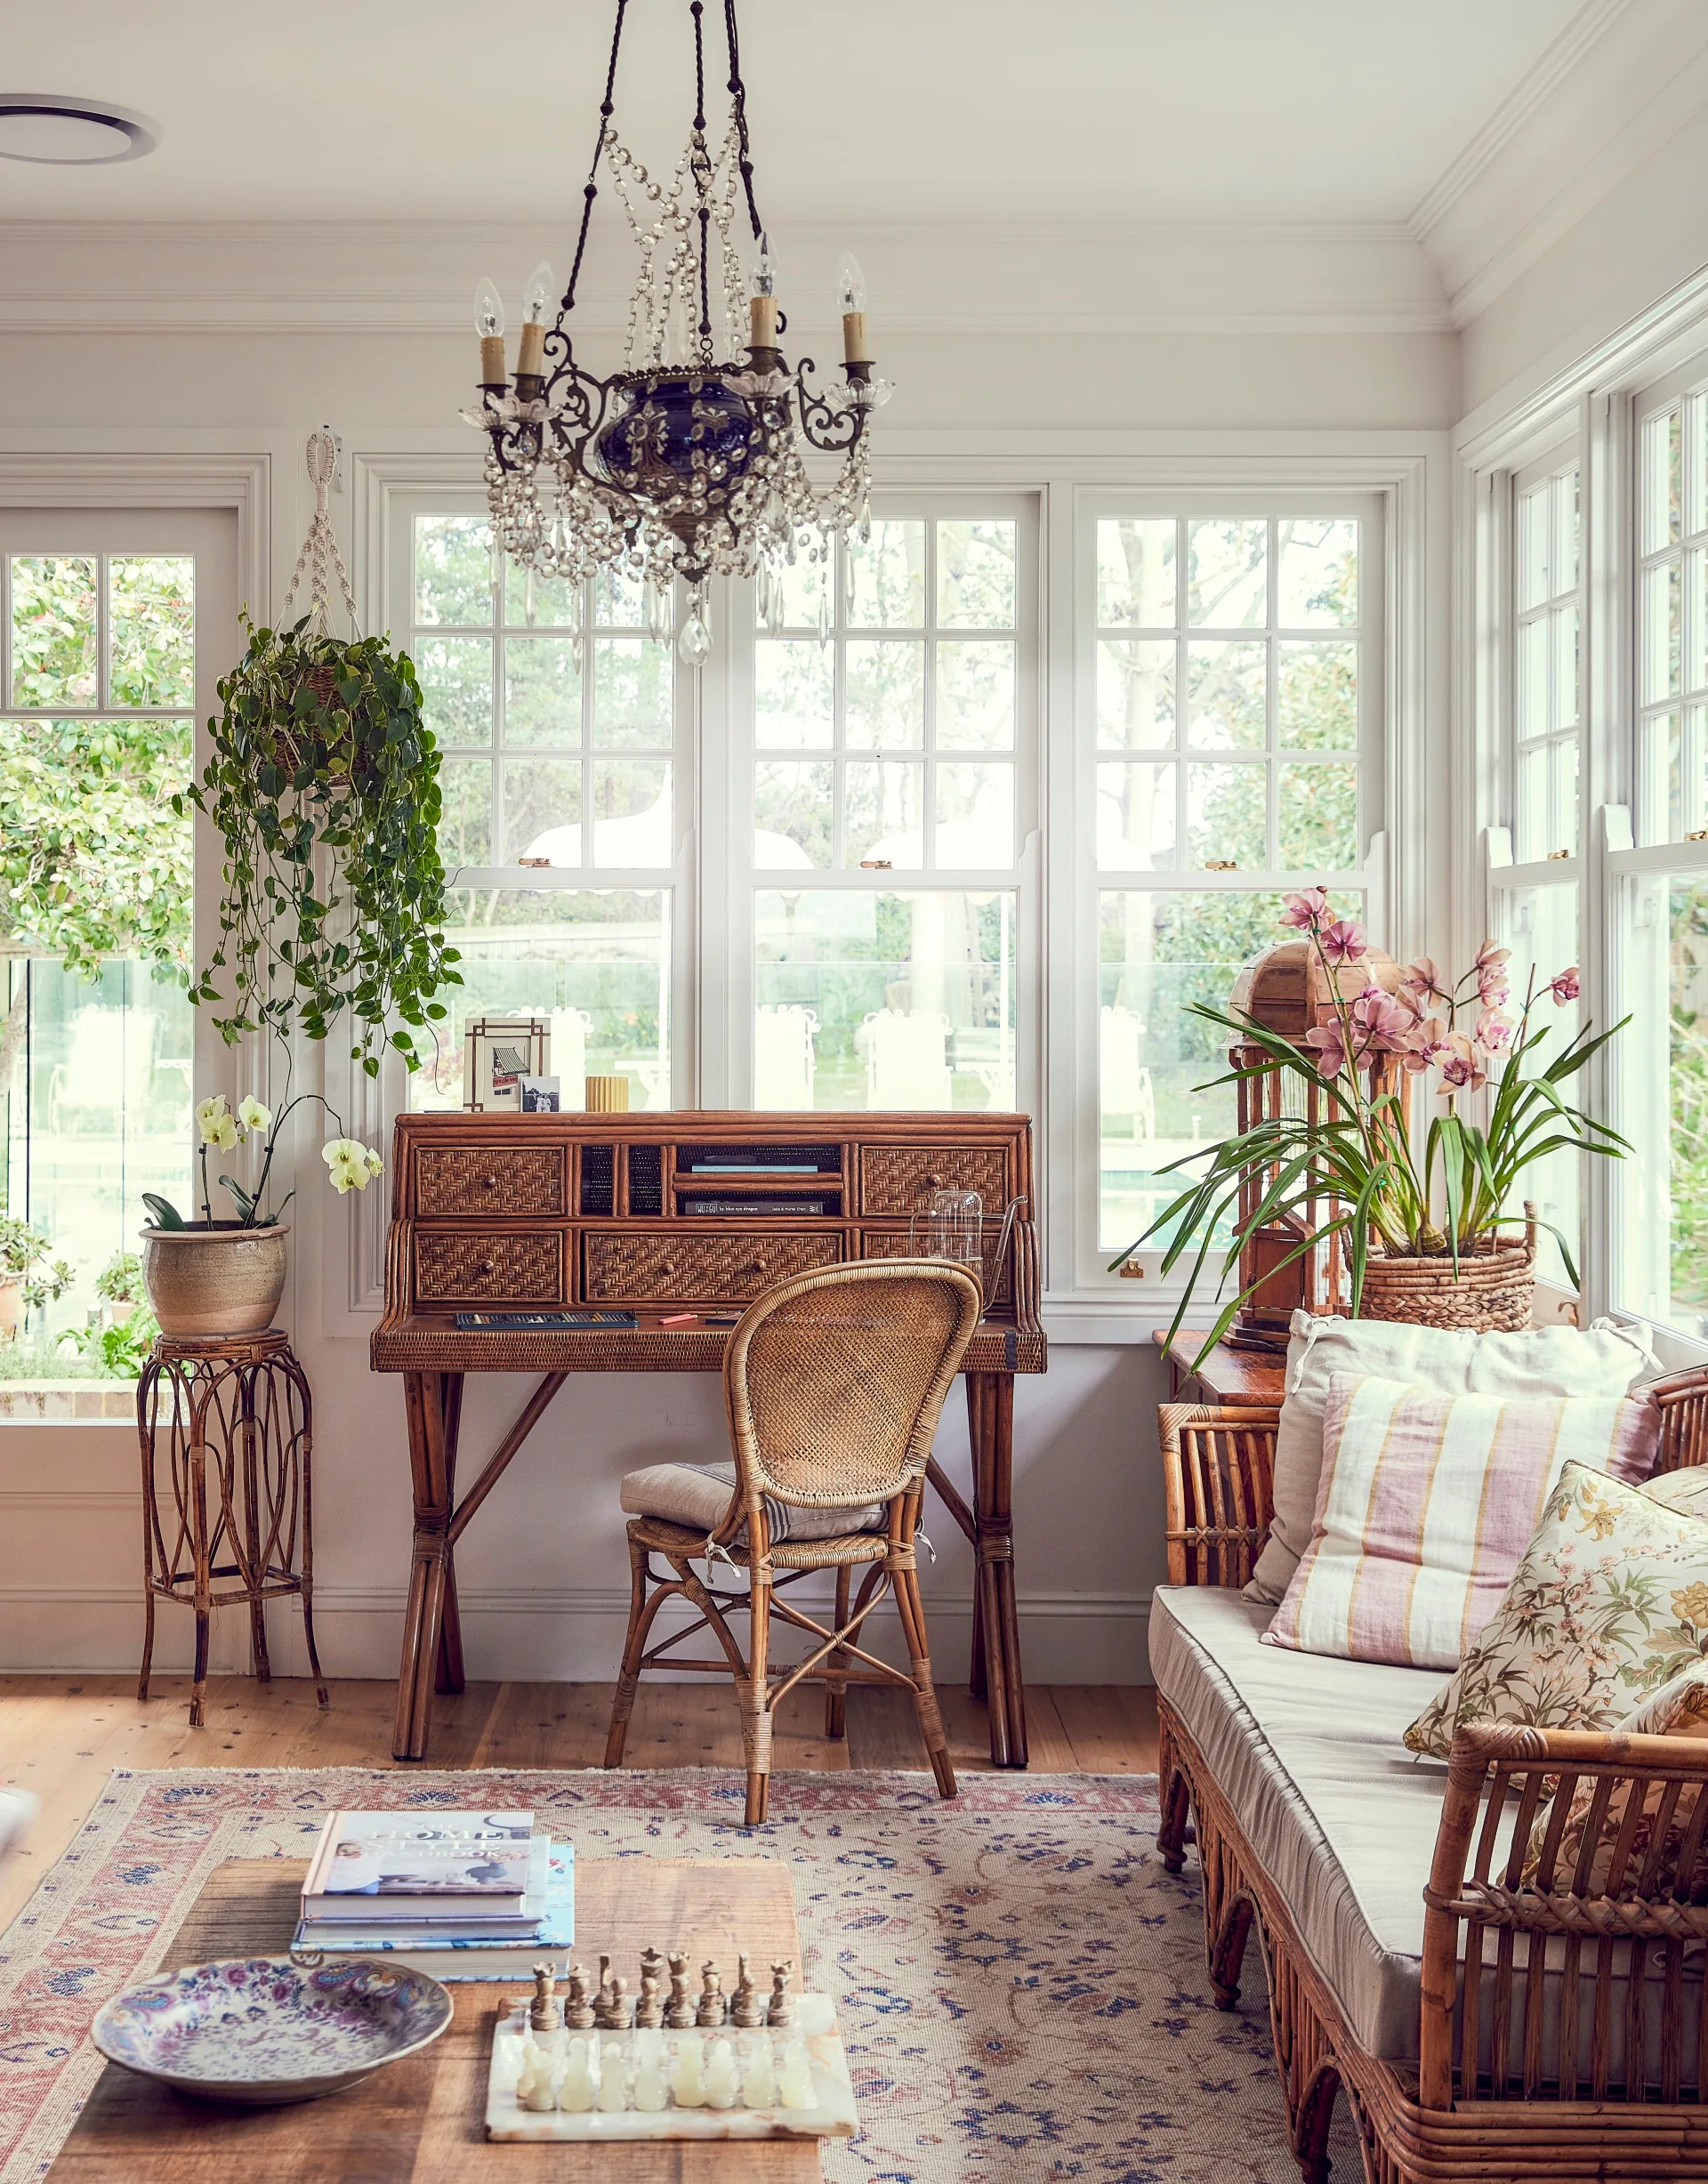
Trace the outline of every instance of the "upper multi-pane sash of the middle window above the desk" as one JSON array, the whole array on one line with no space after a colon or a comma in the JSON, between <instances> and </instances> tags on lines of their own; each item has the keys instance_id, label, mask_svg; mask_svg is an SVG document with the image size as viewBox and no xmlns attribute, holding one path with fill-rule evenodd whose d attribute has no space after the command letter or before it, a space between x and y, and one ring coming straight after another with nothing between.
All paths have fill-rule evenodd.
<instances>
[{"instance_id":1,"label":"upper multi-pane sash of the middle window above the desk","mask_svg":"<svg viewBox=\"0 0 1708 2184\"><path fill-rule=\"evenodd\" d=\"M756 601L756 871L1013 867L1018 535L874 518Z\"/></svg>"}]
</instances>

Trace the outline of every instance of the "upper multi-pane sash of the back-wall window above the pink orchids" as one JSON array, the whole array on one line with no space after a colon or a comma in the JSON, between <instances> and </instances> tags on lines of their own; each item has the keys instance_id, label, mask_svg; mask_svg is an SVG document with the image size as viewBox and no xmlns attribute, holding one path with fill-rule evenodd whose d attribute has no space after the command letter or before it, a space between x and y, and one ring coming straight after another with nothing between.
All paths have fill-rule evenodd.
<instances>
[{"instance_id":1,"label":"upper multi-pane sash of the back-wall window above the pink orchids","mask_svg":"<svg viewBox=\"0 0 1708 2184\"><path fill-rule=\"evenodd\" d=\"M1096 524L1101 871L1359 863L1354 515Z\"/></svg>"}]
</instances>

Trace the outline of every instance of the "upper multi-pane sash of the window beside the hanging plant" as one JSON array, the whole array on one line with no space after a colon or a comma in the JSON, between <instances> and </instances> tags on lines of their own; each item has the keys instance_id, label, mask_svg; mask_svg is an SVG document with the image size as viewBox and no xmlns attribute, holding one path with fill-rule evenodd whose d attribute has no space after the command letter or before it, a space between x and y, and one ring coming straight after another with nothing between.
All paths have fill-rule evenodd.
<instances>
[{"instance_id":1,"label":"upper multi-pane sash of the window beside the hanging plant","mask_svg":"<svg viewBox=\"0 0 1708 2184\"><path fill-rule=\"evenodd\" d=\"M671 869L675 649L642 585L500 572L483 515L417 513L411 555L448 869Z\"/></svg>"}]
</instances>

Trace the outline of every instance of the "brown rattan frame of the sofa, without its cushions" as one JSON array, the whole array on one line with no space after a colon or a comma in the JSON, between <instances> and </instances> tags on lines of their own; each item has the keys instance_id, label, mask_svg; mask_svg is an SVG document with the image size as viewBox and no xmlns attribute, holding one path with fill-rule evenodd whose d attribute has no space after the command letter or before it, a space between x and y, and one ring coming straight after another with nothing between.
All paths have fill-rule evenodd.
<instances>
[{"instance_id":1,"label":"brown rattan frame of the sofa, without its cushions","mask_svg":"<svg viewBox=\"0 0 1708 2184\"><path fill-rule=\"evenodd\" d=\"M1658 1382L1660 1470L1708 1461L1708 1372ZM1243 1586L1273 1509L1273 1409L1162 1404L1169 1583ZM1293 2156L1328 2175L1335 2097L1359 2127L1367 2184L1660 2184L1708 2180L1708 1909L1660 1887L1660 1843L1684 1830L1680 1872L1708 1843L1708 1747L1697 1738L1461 1728L1424 1898L1418 2068L1369 2055L1306 1955L1210 1765L1158 1695L1160 1850L1179 1872L1197 1843L1203 1937L1219 2009L1238 2005L1252 1928ZM1566 1872L1557 1832L1525 1883L1531 1821L1592 1784L1601 1808L1629 1787L1605 1889L1586 1859ZM1653 1852L1636 1841L1647 1791L1667 1800ZM1586 1837L1594 1841L1599 1826ZM1516 1848L1514 1848L1516 1845ZM1627 1977L1647 1950L1649 1977ZM1544 2007L1546 1981L1559 2005ZM1584 1996L1584 1998L1581 1998ZM1625 2070L1623 2057L1642 2057Z\"/></svg>"}]
</instances>

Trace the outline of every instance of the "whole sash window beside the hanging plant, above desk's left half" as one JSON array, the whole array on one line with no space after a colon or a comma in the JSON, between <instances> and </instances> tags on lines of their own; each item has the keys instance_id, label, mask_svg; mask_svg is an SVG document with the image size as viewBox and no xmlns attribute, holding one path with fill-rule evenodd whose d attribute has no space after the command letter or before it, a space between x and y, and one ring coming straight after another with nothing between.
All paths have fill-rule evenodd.
<instances>
[{"instance_id":1,"label":"whole sash window beside the hanging plant, above desk's left half","mask_svg":"<svg viewBox=\"0 0 1708 2184\"><path fill-rule=\"evenodd\" d=\"M668 1107L684 703L671 631L618 577L568 587L500 566L483 513L404 518L393 627L411 629L446 753L439 839L463 957L411 1101L463 1103L472 1020L546 1016L566 1107L590 1075L627 1077L633 1107Z\"/></svg>"}]
</instances>

